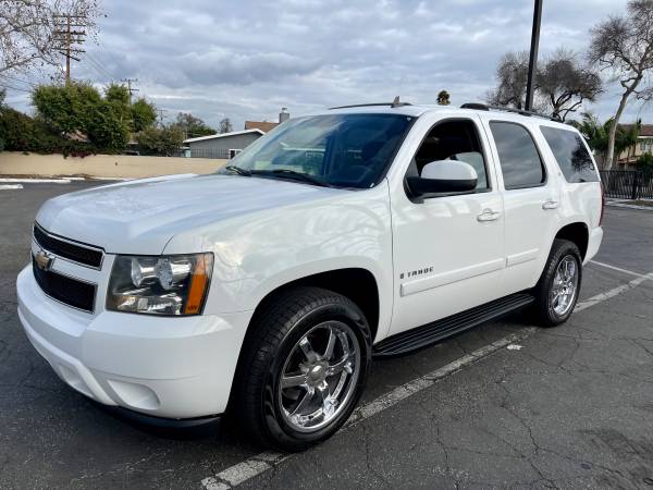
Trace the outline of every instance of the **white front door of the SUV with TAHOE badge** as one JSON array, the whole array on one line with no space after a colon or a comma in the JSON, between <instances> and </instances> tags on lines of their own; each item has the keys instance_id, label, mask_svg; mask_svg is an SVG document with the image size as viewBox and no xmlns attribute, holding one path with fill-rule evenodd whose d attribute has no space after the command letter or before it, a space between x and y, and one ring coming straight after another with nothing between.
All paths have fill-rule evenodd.
<instances>
[{"instance_id":1,"label":"white front door of the SUV with TAHOE badge","mask_svg":"<svg viewBox=\"0 0 653 490\"><path fill-rule=\"evenodd\" d=\"M395 304L390 334L503 295L503 200L488 159L480 120L436 122L421 142L407 175L435 160L459 160L477 170L476 192L411 199L391 196Z\"/></svg>"}]
</instances>

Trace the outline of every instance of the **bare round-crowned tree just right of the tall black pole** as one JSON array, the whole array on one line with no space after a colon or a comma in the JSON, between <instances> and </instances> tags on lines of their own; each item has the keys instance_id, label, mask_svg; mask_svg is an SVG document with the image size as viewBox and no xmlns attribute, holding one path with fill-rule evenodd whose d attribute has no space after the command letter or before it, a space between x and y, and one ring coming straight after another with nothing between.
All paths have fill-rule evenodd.
<instances>
[{"instance_id":1,"label":"bare round-crowned tree just right of the tall black pole","mask_svg":"<svg viewBox=\"0 0 653 490\"><path fill-rule=\"evenodd\" d=\"M583 66L571 51L558 49L538 70L537 89L553 118L565 121L587 100L603 91L601 76Z\"/></svg>"}]
</instances>

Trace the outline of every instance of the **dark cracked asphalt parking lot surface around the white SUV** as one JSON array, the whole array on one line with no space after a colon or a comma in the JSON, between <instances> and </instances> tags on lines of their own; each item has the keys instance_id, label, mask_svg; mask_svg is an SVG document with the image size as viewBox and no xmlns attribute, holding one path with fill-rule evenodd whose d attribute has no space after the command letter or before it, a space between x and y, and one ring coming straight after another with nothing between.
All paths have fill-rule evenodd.
<instances>
[{"instance_id":1,"label":"dark cracked asphalt parking lot surface around the white SUV","mask_svg":"<svg viewBox=\"0 0 653 490\"><path fill-rule=\"evenodd\" d=\"M353 422L301 454L224 424L163 437L64 385L32 347L15 278L48 197L0 191L0 488L652 488L653 211L606 208L580 303L556 329L523 315L377 360Z\"/></svg>"}]
</instances>

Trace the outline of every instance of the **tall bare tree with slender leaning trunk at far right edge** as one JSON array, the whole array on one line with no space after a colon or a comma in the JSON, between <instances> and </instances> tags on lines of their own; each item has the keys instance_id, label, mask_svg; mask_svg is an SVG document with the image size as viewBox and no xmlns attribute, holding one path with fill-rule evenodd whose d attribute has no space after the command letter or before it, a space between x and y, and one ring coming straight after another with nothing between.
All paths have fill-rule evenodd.
<instances>
[{"instance_id":1,"label":"tall bare tree with slender leaning trunk at far right edge","mask_svg":"<svg viewBox=\"0 0 653 490\"><path fill-rule=\"evenodd\" d=\"M605 169L615 155L619 120L632 95L644 101L653 99L653 87L642 88L645 75L653 70L653 0L631 0L626 15L613 15L592 30L590 60L612 72L624 91L608 133Z\"/></svg>"}]
</instances>

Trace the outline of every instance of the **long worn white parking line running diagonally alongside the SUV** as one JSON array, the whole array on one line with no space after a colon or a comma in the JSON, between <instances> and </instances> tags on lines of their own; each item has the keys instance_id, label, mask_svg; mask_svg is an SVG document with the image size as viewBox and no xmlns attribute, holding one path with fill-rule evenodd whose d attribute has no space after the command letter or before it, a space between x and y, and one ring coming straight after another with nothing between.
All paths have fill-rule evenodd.
<instances>
[{"instance_id":1,"label":"long worn white parking line running diagonally alongside the SUV","mask_svg":"<svg viewBox=\"0 0 653 490\"><path fill-rule=\"evenodd\" d=\"M608 267L617 269L614 266ZM633 287L637 287L644 281L653 280L653 272L648 274L637 274L636 272L631 273L638 275L637 279L633 279L627 284L614 287L609 291L597 294L595 296L590 297L589 299L578 303L574 311L582 311L583 309L595 306L599 303L618 296L619 294L623 294L626 291L632 290ZM538 329L535 327L525 327L518 330L516 333L504 336L503 339L500 339L496 342L493 342L470 354L467 354L460 357L459 359L447 364L446 366L435 369L434 371L431 371L420 378L414 379L412 381L408 381L407 383L395 388L389 393L379 396L377 400L367 403L366 405L359 406L354 411L354 413L352 414L347 422L343 426L341 431L347 430L347 428L357 425L360 421L396 405L401 401L414 395L415 393L418 393L429 387L432 387L433 384L435 384L436 381L449 375L453 375L454 372L459 371L464 367L470 366L483 359L484 357L488 357L489 355L500 351L501 348L508 347L516 341L526 339L537 330ZM230 466L229 468L220 471L214 476L202 479L201 485L206 490L229 490L279 465L281 462L292 456L292 453L287 454L267 451L255 456L248 457L244 462Z\"/></svg>"}]
</instances>

